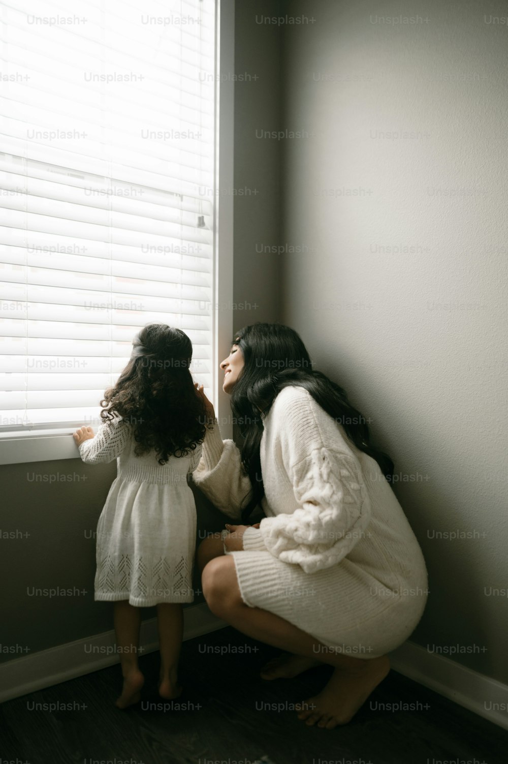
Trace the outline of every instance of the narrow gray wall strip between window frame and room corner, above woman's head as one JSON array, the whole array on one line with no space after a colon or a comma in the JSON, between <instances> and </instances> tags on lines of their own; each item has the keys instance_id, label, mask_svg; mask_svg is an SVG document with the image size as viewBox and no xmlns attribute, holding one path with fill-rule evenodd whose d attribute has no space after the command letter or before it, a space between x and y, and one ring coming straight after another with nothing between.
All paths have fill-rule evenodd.
<instances>
[{"instance_id":1,"label":"narrow gray wall strip between window frame and room corner, above woman's head","mask_svg":"<svg viewBox=\"0 0 508 764\"><path fill-rule=\"evenodd\" d=\"M280 144L256 138L259 125L273 131L280 124L280 30L256 22L277 8L273 0L235 4L235 70L247 78L235 84L235 189L251 192L235 197L234 292L243 306L235 331L278 318L280 257L257 250L279 242Z\"/></svg>"}]
</instances>

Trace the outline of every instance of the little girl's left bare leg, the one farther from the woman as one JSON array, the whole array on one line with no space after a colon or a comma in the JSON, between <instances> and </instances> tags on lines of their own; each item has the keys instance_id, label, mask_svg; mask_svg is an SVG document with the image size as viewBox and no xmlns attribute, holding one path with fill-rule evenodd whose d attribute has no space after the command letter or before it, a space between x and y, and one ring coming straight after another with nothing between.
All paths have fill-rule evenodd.
<instances>
[{"instance_id":1,"label":"little girl's left bare leg, the one farther from the woman","mask_svg":"<svg viewBox=\"0 0 508 764\"><path fill-rule=\"evenodd\" d=\"M115 705L118 708L127 708L133 703L138 703L144 685L144 676L138 666L141 610L129 604L128 600L115 602L113 620L116 646L120 653L121 674L124 678L124 686Z\"/></svg>"}]
</instances>

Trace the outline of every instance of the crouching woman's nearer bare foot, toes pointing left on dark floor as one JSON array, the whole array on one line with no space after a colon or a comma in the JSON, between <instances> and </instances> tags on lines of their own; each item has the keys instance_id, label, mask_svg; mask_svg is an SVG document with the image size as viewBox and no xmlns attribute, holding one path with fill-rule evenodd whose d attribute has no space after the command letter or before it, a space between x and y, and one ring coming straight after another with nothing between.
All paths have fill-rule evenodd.
<instances>
[{"instance_id":1,"label":"crouching woman's nearer bare foot, toes pointing left on dark floor","mask_svg":"<svg viewBox=\"0 0 508 764\"><path fill-rule=\"evenodd\" d=\"M298 718L326 730L348 724L388 672L388 656L365 661L358 669L335 669L324 690L301 704Z\"/></svg>"}]
</instances>

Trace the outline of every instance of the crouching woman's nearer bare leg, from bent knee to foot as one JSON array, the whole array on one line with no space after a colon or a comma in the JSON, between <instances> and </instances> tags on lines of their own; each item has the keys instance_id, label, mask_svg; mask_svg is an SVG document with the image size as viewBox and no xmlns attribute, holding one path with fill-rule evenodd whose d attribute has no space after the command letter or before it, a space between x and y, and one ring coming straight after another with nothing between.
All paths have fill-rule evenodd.
<instances>
[{"instance_id":1,"label":"crouching woman's nearer bare leg, from bent knee to foot","mask_svg":"<svg viewBox=\"0 0 508 764\"><path fill-rule=\"evenodd\" d=\"M205 566L202 581L212 613L238 631L306 658L314 659L319 653L322 662L334 667L328 685L305 701L298 714L308 725L332 730L338 724L347 724L390 671L387 656L364 660L341 655L283 618L259 607L248 607L241 599L231 555L212 559Z\"/></svg>"}]
</instances>

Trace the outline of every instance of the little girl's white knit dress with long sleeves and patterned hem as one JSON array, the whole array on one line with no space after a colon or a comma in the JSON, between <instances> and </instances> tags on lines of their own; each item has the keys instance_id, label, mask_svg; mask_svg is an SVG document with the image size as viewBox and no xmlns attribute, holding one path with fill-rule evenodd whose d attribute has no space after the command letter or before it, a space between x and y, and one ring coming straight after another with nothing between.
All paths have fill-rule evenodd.
<instances>
[{"instance_id":1,"label":"little girl's white knit dress with long sleeves and patterned hem","mask_svg":"<svg viewBox=\"0 0 508 764\"><path fill-rule=\"evenodd\" d=\"M119 418L79 446L87 464L118 458L97 525L95 600L193 602L196 503L188 479L202 446L165 465L155 452L136 456L135 446L131 426Z\"/></svg>"}]
</instances>

